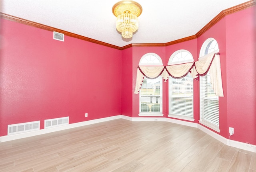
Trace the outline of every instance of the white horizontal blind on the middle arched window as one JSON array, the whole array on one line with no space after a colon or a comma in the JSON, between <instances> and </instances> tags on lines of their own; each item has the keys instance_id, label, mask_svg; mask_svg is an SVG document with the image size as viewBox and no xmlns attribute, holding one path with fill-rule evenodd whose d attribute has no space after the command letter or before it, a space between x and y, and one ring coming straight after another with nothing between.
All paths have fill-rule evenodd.
<instances>
[{"instance_id":1,"label":"white horizontal blind on the middle arched window","mask_svg":"<svg viewBox=\"0 0 256 172\"><path fill-rule=\"evenodd\" d=\"M179 115L193 119L193 78L169 77L169 116Z\"/></svg>"}]
</instances>

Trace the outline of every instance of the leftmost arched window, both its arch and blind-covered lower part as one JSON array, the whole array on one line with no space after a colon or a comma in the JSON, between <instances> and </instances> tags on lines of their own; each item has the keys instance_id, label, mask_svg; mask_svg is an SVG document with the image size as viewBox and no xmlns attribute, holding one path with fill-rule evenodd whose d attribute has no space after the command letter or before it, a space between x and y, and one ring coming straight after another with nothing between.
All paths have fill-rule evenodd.
<instances>
[{"instance_id":1,"label":"leftmost arched window, both its arch and blind-covered lower part","mask_svg":"<svg viewBox=\"0 0 256 172\"><path fill-rule=\"evenodd\" d=\"M147 53L140 59L140 66L162 66L162 59L155 53ZM140 88L139 116L163 116L162 76L154 79L144 77Z\"/></svg>"}]
</instances>

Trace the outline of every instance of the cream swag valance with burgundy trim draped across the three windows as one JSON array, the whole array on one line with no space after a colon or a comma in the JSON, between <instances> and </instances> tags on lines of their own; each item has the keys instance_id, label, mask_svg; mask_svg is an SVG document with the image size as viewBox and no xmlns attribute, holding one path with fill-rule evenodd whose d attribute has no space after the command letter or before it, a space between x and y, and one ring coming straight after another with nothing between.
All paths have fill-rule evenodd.
<instances>
[{"instance_id":1,"label":"cream swag valance with burgundy trim draped across the three windows","mask_svg":"<svg viewBox=\"0 0 256 172\"><path fill-rule=\"evenodd\" d=\"M134 93L139 93L144 77L154 79L161 75L165 80L164 82L166 82L169 76L179 79L190 73L192 78L198 80L199 75L204 76L207 72L210 73L210 82L214 93L216 96L223 97L220 54L216 53L216 51L199 58L194 63L170 66L138 66Z\"/></svg>"}]
</instances>

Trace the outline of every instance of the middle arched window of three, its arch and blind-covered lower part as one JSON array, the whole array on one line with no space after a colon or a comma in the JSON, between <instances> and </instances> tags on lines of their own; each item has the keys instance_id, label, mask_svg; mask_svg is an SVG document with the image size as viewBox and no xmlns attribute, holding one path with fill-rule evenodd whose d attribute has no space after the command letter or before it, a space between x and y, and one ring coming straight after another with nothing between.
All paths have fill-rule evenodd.
<instances>
[{"instance_id":1,"label":"middle arched window of three, its arch and blind-covered lower part","mask_svg":"<svg viewBox=\"0 0 256 172\"><path fill-rule=\"evenodd\" d=\"M169 59L170 64L193 62L192 54L186 50L178 50ZM169 115L179 119L194 121L193 115L193 78L188 73L176 79L169 77Z\"/></svg>"}]
</instances>

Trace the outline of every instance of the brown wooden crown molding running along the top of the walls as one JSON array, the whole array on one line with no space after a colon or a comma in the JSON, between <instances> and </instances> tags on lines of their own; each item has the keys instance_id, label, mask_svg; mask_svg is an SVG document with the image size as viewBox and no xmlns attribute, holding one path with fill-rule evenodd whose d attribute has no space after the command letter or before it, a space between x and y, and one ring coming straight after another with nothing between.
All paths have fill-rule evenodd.
<instances>
[{"instance_id":1,"label":"brown wooden crown molding running along the top of the walls","mask_svg":"<svg viewBox=\"0 0 256 172\"><path fill-rule=\"evenodd\" d=\"M192 39L196 39L196 38L200 37L203 33L205 33L208 29L210 29L213 25L218 23L225 16L227 16L229 14L232 14L232 13L235 13L235 12L238 12L238 11L241 11L241 10L244 10L246 8L250 8L250 7L255 6L255 5L256 5L256 0L250 0L248 2L244 2L244 3L239 4L237 6L234 6L234 7L228 8L226 10L223 10L215 18L213 18L208 24L206 24L202 29L200 29L200 31L198 31L195 35L192 35L192 36L189 36L189 37L185 37L185 38L182 38L182 39L177 39L175 41L170 41L168 43L134 43L134 44L126 45L124 47L118 47L116 45L108 44L108 43L105 43L105 42L102 42L102 41L98 41L96 39L91 39L91 38L84 37L84 36L81 36L81 35L78 35L78 34L75 34L75 33L71 33L71 32L68 32L68 31L61 30L61 29L57 29L55 27L50 27L48 25L43 25L43 24L40 24L40 23L36 23L36 22L26 20L26 19L18 18L18 17L11 16L11 15L8 15L8 14L4 14L2 12L0 12L0 17L4 18L6 20L10 20L10 21L13 21L13 22L30 25L30 26L37 27L37 28L40 28L40 29L64 33L64 35L74 37L74 38L77 38L77 39L82 39L84 41L96 43L96 44L103 45L103 46L106 46L106 47L111 47L111 48L118 49L118 50L124 50L124 49L128 49L130 47L165 47L165 46L168 46L168 45L174 45L174 44L177 44L177 43L181 43L181 42L189 41L189 40L192 40Z\"/></svg>"}]
</instances>

